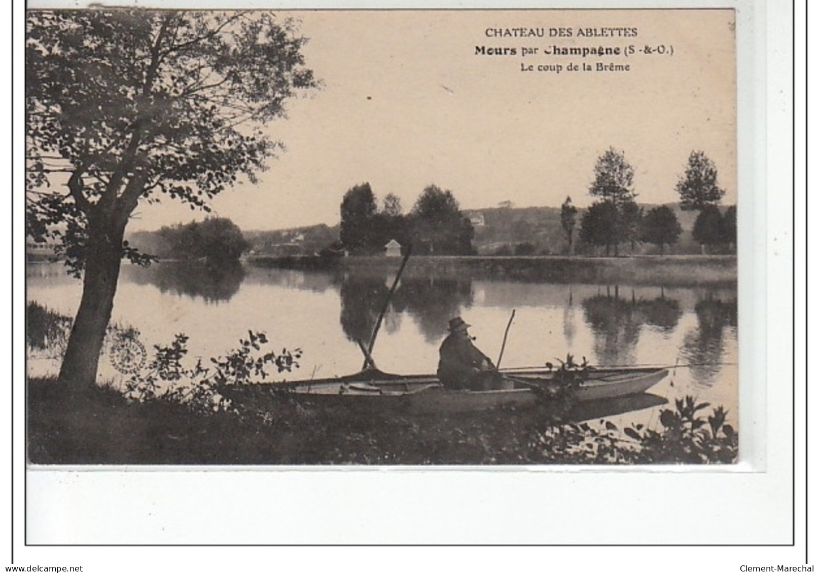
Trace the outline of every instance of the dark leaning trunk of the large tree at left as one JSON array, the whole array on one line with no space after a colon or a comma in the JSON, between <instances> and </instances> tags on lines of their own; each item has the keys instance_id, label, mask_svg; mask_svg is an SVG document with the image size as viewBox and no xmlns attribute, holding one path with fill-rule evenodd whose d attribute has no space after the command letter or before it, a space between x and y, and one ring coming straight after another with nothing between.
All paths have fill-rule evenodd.
<instances>
[{"instance_id":1,"label":"dark leaning trunk of the large tree at left","mask_svg":"<svg viewBox=\"0 0 819 573\"><path fill-rule=\"evenodd\" d=\"M93 386L120 276L124 226L88 232L83 296L60 368L60 381L75 389Z\"/></svg>"}]
</instances>

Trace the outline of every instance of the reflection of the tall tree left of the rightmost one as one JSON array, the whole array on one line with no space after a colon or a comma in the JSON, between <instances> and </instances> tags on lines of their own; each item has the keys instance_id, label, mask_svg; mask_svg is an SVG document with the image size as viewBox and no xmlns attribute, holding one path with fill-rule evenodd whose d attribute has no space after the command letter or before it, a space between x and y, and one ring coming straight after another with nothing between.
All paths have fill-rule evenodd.
<instances>
[{"instance_id":1,"label":"reflection of the tall tree left of the rightmost one","mask_svg":"<svg viewBox=\"0 0 819 573\"><path fill-rule=\"evenodd\" d=\"M608 291L608 289L607 289ZM583 300L586 323L595 333L595 354L601 364L634 362L634 350L640 336L640 308L635 300L618 296L592 296Z\"/></svg>"}]
</instances>

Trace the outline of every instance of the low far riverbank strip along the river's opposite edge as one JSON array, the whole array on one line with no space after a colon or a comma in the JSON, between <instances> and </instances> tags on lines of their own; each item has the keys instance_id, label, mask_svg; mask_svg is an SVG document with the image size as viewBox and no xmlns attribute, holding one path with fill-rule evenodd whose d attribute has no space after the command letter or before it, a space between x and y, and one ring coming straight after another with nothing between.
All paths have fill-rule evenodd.
<instances>
[{"instance_id":1,"label":"low far riverbank strip along the river's opposite edge","mask_svg":"<svg viewBox=\"0 0 819 573\"><path fill-rule=\"evenodd\" d=\"M401 259L384 256L258 257L247 263L262 268L304 271L341 269L366 275L396 271ZM407 277L469 276L521 282L731 287L737 280L735 255L635 257L415 256Z\"/></svg>"}]
</instances>

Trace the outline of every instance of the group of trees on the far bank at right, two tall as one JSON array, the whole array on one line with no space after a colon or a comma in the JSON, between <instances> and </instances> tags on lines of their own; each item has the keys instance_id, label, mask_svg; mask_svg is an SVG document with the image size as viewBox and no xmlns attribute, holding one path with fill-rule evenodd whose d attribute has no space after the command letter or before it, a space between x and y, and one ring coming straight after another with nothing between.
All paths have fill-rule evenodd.
<instances>
[{"instance_id":1,"label":"group of trees on the far bank at right, two tall","mask_svg":"<svg viewBox=\"0 0 819 573\"><path fill-rule=\"evenodd\" d=\"M604 247L605 254L619 254L619 246L628 243L634 252L636 243L650 243L663 253L675 244L682 233L676 214L666 205L648 212L636 203L633 190L634 169L625 154L613 148L605 151L595 164L595 179L589 194L597 201L582 215L579 237L590 246ZM718 204L725 191L717 184L717 168L703 151L692 151L686 172L676 184L682 210L697 210L692 235L702 252L718 246L733 250L736 243L736 207L722 213ZM560 212L568 251L574 251L574 229L577 207L571 197L563 202Z\"/></svg>"}]
</instances>

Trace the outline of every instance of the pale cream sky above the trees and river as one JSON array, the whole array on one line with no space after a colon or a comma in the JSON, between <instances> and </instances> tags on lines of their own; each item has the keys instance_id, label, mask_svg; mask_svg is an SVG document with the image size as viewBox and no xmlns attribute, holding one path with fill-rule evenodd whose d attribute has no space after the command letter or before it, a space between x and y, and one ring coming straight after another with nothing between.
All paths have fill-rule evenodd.
<instances>
[{"instance_id":1,"label":"pale cream sky above the trees and river","mask_svg":"<svg viewBox=\"0 0 819 573\"><path fill-rule=\"evenodd\" d=\"M244 182L212 202L215 214L242 229L336 224L344 193L364 182L379 204L388 193L399 196L405 212L430 184L450 189L462 209L501 201L559 206L567 196L586 206L595 161L609 147L634 167L640 202L676 201L676 182L694 150L717 165L723 203L736 201L731 10L280 14L301 21L310 38L306 65L323 86L288 102L287 118L268 125L286 149L258 183ZM518 28L544 29L545 37L498 38L494 31ZM571 28L572 36L550 38L559 28ZM580 29L636 37L579 37ZM665 53L543 53L554 46L663 46ZM476 53L478 47L515 53ZM523 47L537 53L524 56ZM584 62L595 70L567 70ZM630 69L597 71L598 62ZM528 65L534 70L523 71ZM140 205L129 229L204 216L166 199Z\"/></svg>"}]
</instances>

